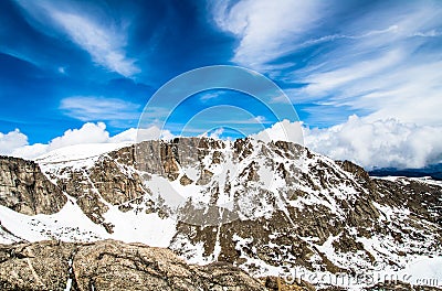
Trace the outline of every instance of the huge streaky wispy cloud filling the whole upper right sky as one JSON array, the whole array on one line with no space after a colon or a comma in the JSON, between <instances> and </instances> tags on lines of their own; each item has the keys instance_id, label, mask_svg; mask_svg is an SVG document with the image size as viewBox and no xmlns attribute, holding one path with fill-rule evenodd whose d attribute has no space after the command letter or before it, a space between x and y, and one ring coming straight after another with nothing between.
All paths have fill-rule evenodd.
<instances>
[{"instance_id":1,"label":"huge streaky wispy cloud filling the whole upper right sky","mask_svg":"<svg viewBox=\"0 0 442 291\"><path fill-rule=\"evenodd\" d=\"M441 2L383 2L350 14L347 4L222 1L212 13L239 40L232 61L283 82L295 104L336 107L335 121L345 108L367 120L440 125Z\"/></svg>"}]
</instances>

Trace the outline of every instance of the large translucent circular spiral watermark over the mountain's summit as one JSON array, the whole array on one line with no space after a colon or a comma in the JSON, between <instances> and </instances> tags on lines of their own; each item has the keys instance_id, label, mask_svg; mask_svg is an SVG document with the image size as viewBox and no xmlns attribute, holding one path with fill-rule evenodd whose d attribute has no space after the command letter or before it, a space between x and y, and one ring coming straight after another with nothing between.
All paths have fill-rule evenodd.
<instances>
[{"instance_id":1,"label":"large translucent circular spiral watermark over the mountain's summit","mask_svg":"<svg viewBox=\"0 0 442 291\"><path fill-rule=\"evenodd\" d=\"M222 98L225 94L234 97ZM257 111L265 112L265 117ZM286 122L280 122L283 120ZM203 158L209 154L212 160L223 154L223 146L206 137L210 132L229 129L241 137L261 132L263 140L272 140L265 129L277 123L282 134L278 139L303 144L301 123L293 126L295 121L299 119L291 100L264 75L238 66L197 68L172 78L148 100L137 129L136 166L140 172L159 173L167 177L143 176L147 187L149 184L161 185L158 193L151 187L148 191L152 192L155 203L177 220L199 226L229 223L238 219L244 211L257 209L261 202L259 198L239 201L238 193L231 193L232 186L238 183L234 180L238 171L244 171L241 165L227 162L224 165L229 166L223 166L222 163L204 162ZM152 126L160 129L154 137ZM170 132L178 138L164 142ZM198 132L198 138L180 138L192 136L189 132ZM239 141L236 147L244 147L239 151L246 151L250 144ZM192 166L194 163L200 164L199 169ZM159 169L157 165L160 165ZM253 163L249 166L253 168ZM260 176L261 190L272 188L273 174ZM218 193L208 193L208 187L202 186L212 177L222 181L212 187L218 188ZM157 181L151 183L155 179Z\"/></svg>"}]
</instances>

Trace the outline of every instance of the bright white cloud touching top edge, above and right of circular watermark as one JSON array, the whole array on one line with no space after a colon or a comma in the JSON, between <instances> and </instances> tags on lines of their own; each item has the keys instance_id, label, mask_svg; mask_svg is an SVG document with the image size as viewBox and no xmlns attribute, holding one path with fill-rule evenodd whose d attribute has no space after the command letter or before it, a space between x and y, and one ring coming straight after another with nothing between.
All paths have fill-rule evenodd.
<instances>
[{"instance_id":1,"label":"bright white cloud touching top edge, above and right of circular watermark","mask_svg":"<svg viewBox=\"0 0 442 291\"><path fill-rule=\"evenodd\" d=\"M324 1L219 1L212 14L221 30L240 39L233 61L261 69L313 29L324 7Z\"/></svg>"}]
</instances>

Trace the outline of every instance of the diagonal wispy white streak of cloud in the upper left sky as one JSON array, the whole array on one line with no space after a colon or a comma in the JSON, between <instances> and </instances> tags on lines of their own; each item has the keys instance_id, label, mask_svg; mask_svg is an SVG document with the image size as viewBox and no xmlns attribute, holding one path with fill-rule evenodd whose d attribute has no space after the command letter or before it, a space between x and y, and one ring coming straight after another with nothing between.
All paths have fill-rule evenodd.
<instances>
[{"instance_id":1,"label":"diagonal wispy white streak of cloud in the upper left sky","mask_svg":"<svg viewBox=\"0 0 442 291\"><path fill-rule=\"evenodd\" d=\"M128 25L124 21L116 23L109 17L87 13L77 2L17 2L36 30L51 36L67 36L96 64L125 77L140 72L136 60L126 55Z\"/></svg>"}]
</instances>

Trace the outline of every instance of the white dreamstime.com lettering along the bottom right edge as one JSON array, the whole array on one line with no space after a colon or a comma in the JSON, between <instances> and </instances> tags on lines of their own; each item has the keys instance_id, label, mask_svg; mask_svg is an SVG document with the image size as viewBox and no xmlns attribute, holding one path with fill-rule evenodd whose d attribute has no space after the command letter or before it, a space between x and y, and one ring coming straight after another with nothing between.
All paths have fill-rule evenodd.
<instances>
[{"instance_id":1,"label":"white dreamstime.com lettering along the bottom right edge","mask_svg":"<svg viewBox=\"0 0 442 291\"><path fill-rule=\"evenodd\" d=\"M339 285L339 287L372 287L378 283L410 283L413 285L429 285L441 287L436 278L417 278L407 272L387 272L387 271L370 271L367 270L360 273L345 273L345 272L312 272L302 268L294 268L288 271L280 273L280 278L286 284L302 284L303 281L309 282L314 285Z\"/></svg>"}]
</instances>

